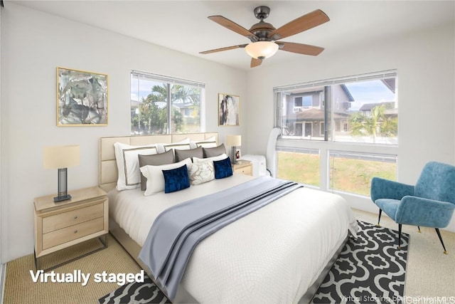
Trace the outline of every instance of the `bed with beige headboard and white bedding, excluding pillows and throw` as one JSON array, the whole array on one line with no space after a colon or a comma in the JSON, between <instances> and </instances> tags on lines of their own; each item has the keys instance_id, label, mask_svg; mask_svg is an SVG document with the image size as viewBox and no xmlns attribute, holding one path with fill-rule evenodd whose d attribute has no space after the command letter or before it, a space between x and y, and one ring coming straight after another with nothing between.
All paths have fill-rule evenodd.
<instances>
[{"instance_id":1,"label":"bed with beige headboard and white bedding, excluding pillows and throw","mask_svg":"<svg viewBox=\"0 0 455 304\"><path fill-rule=\"evenodd\" d=\"M100 187L109 196L109 231L152 279L138 256L162 211L255 179L233 174L151 196L140 188L116 189L114 143L165 143L178 149L185 140L218 145L218 133L100 138ZM341 196L301 187L203 239L188 261L173 303L306 303L356 231Z\"/></svg>"}]
</instances>

